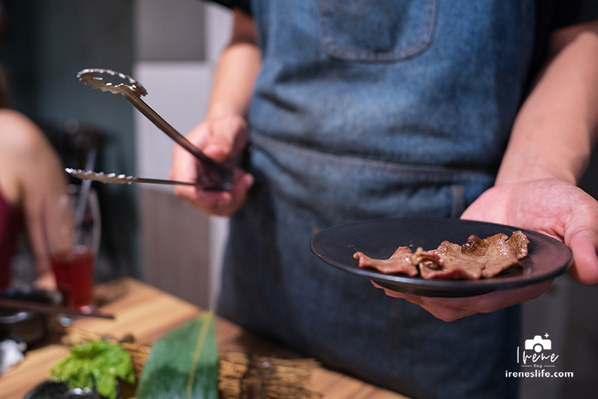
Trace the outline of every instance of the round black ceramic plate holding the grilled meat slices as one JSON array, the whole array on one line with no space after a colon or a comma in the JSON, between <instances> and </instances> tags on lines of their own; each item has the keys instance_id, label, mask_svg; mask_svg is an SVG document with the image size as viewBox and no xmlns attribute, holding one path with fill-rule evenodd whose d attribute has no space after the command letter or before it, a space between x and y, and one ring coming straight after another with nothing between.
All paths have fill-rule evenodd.
<instances>
[{"instance_id":1,"label":"round black ceramic plate holding the grilled meat slices","mask_svg":"<svg viewBox=\"0 0 598 399\"><path fill-rule=\"evenodd\" d=\"M507 270L495 277L479 280L426 280L402 274L384 274L357 265L353 253L361 251L371 258L386 259L400 246L415 251L438 247L442 241L465 243L471 234L485 238L498 233L511 235L519 230L502 224L459 219L420 217L376 219L342 224L324 229L310 242L319 259L352 274L366 277L381 286L418 296L464 297L481 295L497 289L514 289L553 279L571 263L571 250L561 241L521 229L528 239L528 256L521 259L523 268Z\"/></svg>"}]
</instances>

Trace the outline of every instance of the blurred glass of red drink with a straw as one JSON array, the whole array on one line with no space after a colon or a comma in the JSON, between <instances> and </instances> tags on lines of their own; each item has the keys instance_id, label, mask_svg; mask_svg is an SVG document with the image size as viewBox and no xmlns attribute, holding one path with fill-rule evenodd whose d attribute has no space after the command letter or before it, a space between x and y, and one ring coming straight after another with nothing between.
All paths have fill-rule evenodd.
<instances>
[{"instance_id":1,"label":"blurred glass of red drink with a straw","mask_svg":"<svg viewBox=\"0 0 598 399\"><path fill-rule=\"evenodd\" d=\"M46 194L42 204L44 240L56 286L69 308L94 308L94 262L100 242L96 191L71 185L68 194Z\"/></svg>"}]
</instances>

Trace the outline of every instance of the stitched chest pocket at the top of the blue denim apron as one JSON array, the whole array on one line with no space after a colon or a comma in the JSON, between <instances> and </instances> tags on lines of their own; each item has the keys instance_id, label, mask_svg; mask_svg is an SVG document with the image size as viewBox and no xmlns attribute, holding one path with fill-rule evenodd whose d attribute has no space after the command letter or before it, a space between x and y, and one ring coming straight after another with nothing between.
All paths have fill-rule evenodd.
<instances>
[{"instance_id":1,"label":"stitched chest pocket at the top of the blue denim apron","mask_svg":"<svg viewBox=\"0 0 598 399\"><path fill-rule=\"evenodd\" d=\"M319 0L320 44L333 58L401 61L428 48L435 16L436 0Z\"/></svg>"}]
</instances>

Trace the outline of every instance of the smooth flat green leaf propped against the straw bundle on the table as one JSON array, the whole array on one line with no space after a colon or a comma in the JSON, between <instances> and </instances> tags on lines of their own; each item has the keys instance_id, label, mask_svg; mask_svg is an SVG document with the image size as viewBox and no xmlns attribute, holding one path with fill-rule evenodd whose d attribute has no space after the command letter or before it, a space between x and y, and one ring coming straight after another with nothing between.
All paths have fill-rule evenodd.
<instances>
[{"instance_id":1,"label":"smooth flat green leaf propped against the straw bundle on the table","mask_svg":"<svg viewBox=\"0 0 598 399\"><path fill-rule=\"evenodd\" d=\"M218 350L212 312L203 312L153 344L136 398L218 398Z\"/></svg>"}]
</instances>

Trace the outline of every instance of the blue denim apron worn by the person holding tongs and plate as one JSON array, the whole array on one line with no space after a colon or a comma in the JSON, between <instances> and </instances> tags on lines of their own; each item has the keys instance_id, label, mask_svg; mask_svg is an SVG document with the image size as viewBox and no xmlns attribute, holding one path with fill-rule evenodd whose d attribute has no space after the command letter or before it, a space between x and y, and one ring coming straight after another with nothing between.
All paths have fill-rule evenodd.
<instances>
[{"instance_id":1,"label":"blue denim apron worn by the person holding tongs and plate","mask_svg":"<svg viewBox=\"0 0 598 399\"><path fill-rule=\"evenodd\" d=\"M246 207L217 312L412 398L515 398L519 307L435 319L312 255L378 217L459 217L492 186L523 96L532 0L255 0L262 72Z\"/></svg>"}]
</instances>

